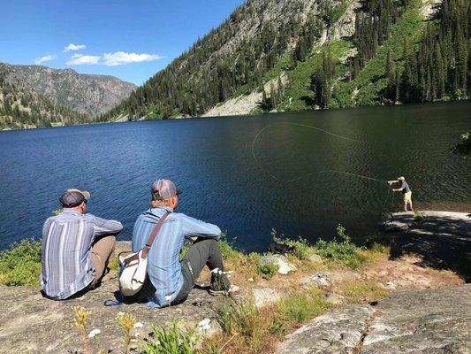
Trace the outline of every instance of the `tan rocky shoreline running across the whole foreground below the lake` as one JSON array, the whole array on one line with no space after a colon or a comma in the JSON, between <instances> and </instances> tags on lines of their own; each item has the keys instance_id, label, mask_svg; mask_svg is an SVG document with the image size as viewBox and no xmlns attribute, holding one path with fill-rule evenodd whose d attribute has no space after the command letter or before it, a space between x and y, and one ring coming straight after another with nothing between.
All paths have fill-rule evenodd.
<instances>
[{"instance_id":1,"label":"tan rocky shoreline running across the whole foreground below the lake","mask_svg":"<svg viewBox=\"0 0 471 354\"><path fill-rule=\"evenodd\" d=\"M243 263L246 258L242 263L240 260L234 263L234 259L242 257L238 254L228 259L232 282L243 289L236 301L251 298L261 313L263 309L270 312L270 306L286 299L293 289L317 289L323 294L323 304L330 308L307 323L299 322L299 329L260 352L469 352L471 318L463 310L470 307L471 287L464 284L466 274L453 273L443 265L427 264L426 255L409 252L411 240L418 243L419 249L423 247L424 241L414 239L416 235L444 239L443 242L452 242L451 235L456 235L465 240L460 243L460 251L466 254L463 244L468 247L471 241L470 221L467 213L459 214L423 212L422 219L414 218L412 213L394 214L391 222L408 223L406 231L399 229L394 234L396 240L401 237L404 240L392 245L387 253L368 250L365 255L370 260L358 269L336 266L315 254L304 260L272 255L262 257L262 261L277 263L277 274L263 279L247 273ZM447 218L454 218L455 222L444 221ZM423 234L424 230L429 230L429 234ZM118 242L116 252L129 248L130 242ZM433 247L428 251L436 253ZM394 255L395 252L400 255ZM149 309L141 304L105 307L103 302L113 298L117 290L116 272L107 276L102 287L65 302L45 299L35 287L0 286L0 353L83 352L82 338L72 324L72 306L82 306L91 312L89 330L99 329L100 346L112 352L123 351L122 329L116 320L119 312L131 313L141 323L132 330L131 348L137 348L142 338L148 337L152 323L171 327L174 321L179 321L186 327L199 328L202 335L219 335L217 308L234 299L210 296L205 289L208 275L202 274L200 286L184 304L164 309ZM204 329L198 327L201 321L205 322Z\"/></svg>"}]
</instances>

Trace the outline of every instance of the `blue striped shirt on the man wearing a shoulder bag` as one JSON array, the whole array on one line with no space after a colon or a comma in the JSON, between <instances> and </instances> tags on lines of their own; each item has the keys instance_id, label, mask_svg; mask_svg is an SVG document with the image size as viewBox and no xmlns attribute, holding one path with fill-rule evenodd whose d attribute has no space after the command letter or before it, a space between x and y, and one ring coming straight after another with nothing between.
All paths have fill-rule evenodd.
<instances>
[{"instance_id":1,"label":"blue striped shirt on the man wearing a shoulder bag","mask_svg":"<svg viewBox=\"0 0 471 354\"><path fill-rule=\"evenodd\" d=\"M133 230L133 252L144 247L148 235L167 211L171 212L171 208L151 208L138 217ZM216 225L171 212L148 253L148 277L156 288L148 305L162 307L179 295L183 286L179 254L186 238L197 236L219 239L220 235L221 230Z\"/></svg>"}]
</instances>

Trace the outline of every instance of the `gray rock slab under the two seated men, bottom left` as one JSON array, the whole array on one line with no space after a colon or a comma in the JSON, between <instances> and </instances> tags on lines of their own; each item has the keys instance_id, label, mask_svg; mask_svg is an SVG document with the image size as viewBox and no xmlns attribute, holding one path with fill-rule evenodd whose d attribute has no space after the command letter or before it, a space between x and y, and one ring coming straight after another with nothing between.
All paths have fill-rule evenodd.
<instances>
[{"instance_id":1,"label":"gray rock slab under the two seated men, bottom left","mask_svg":"<svg viewBox=\"0 0 471 354\"><path fill-rule=\"evenodd\" d=\"M88 331L101 330L103 349L123 352L124 337L118 325L118 312L133 313L143 324L141 337L150 332L150 323L168 327L172 320L194 326L202 319L216 325L212 308L226 301L224 296L210 296L206 290L194 289L184 304L164 309L150 309L143 304L105 307L103 301L113 298L117 281L108 281L85 296L66 301L43 298L37 288L0 286L0 353L67 353L83 351L79 332L72 325L72 306L83 306L92 314ZM97 350L95 350L97 351Z\"/></svg>"}]
</instances>

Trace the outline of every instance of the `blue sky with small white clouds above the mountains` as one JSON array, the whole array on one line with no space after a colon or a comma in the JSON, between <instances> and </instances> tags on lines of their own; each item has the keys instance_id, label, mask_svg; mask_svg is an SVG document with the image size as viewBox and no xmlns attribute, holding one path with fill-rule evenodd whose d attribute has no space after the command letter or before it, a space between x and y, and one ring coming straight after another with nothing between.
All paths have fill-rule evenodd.
<instances>
[{"instance_id":1,"label":"blue sky with small white clouds above the mountains","mask_svg":"<svg viewBox=\"0 0 471 354\"><path fill-rule=\"evenodd\" d=\"M243 2L0 0L0 62L70 67L140 85Z\"/></svg>"}]
</instances>

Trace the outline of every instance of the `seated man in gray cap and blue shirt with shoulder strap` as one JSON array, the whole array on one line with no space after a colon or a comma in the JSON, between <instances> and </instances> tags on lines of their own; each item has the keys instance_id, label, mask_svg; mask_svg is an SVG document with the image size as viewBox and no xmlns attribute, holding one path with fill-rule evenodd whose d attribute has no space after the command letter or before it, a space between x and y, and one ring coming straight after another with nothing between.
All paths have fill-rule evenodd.
<instances>
[{"instance_id":1,"label":"seated man in gray cap and blue shirt with shoulder strap","mask_svg":"<svg viewBox=\"0 0 471 354\"><path fill-rule=\"evenodd\" d=\"M158 220L169 213L148 253L148 280L136 296L138 301L150 307L183 303L204 266L211 271L211 294L238 290L224 274L223 257L217 242L221 230L216 225L174 212L179 204L179 194L172 181L155 181L151 189L151 208L143 212L134 225L132 247L137 252L144 247ZM194 244L180 262L185 240Z\"/></svg>"}]
</instances>

